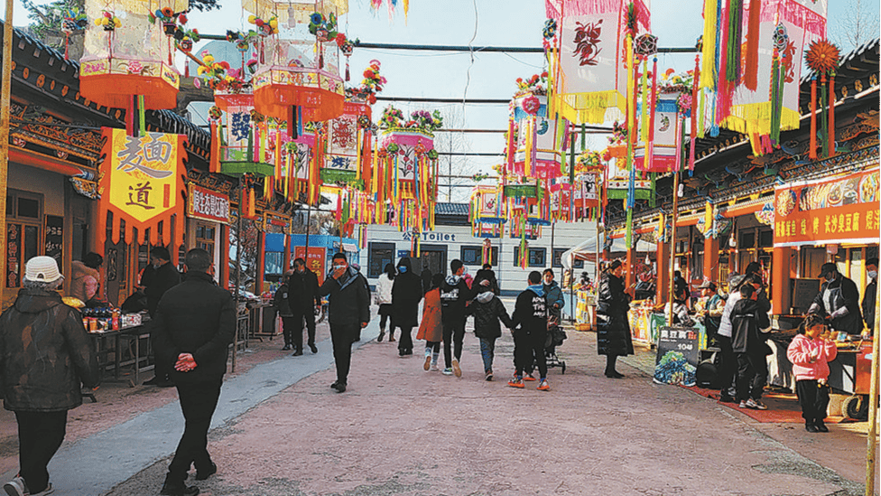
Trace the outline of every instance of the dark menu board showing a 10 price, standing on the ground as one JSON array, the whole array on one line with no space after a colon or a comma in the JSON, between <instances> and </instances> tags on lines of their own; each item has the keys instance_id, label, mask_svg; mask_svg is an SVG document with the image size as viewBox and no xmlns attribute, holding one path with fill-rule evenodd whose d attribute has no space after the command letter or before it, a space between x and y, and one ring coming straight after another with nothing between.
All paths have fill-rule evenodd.
<instances>
[{"instance_id":1,"label":"dark menu board showing a 10 price, standing on the ground","mask_svg":"<svg viewBox=\"0 0 881 496\"><path fill-rule=\"evenodd\" d=\"M662 327L658 333L658 355L654 361L654 382L697 384L700 361L700 332L693 327Z\"/></svg>"}]
</instances>

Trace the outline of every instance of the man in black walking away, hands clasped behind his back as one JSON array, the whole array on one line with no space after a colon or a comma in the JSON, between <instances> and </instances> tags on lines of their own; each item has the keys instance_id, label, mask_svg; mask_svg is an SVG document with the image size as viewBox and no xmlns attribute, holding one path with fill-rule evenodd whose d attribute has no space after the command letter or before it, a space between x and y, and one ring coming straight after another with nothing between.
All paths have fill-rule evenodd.
<instances>
[{"instance_id":1,"label":"man in black walking away, hands clasped behind his back","mask_svg":"<svg viewBox=\"0 0 881 496\"><path fill-rule=\"evenodd\" d=\"M162 296L151 322L156 360L173 365L186 420L160 492L170 496L199 494L198 487L184 484L190 465L196 466L197 481L218 471L208 453L208 430L236 335L236 304L209 276L208 251L190 249L186 264L186 279Z\"/></svg>"}]
</instances>

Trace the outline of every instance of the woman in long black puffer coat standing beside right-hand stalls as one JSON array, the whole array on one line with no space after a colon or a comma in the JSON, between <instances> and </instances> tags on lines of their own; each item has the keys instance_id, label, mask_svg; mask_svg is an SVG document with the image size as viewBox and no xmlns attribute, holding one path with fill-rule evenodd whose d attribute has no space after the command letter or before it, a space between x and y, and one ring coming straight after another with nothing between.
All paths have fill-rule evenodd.
<instances>
[{"instance_id":1,"label":"woman in long black puffer coat standing beside right-hand stalls","mask_svg":"<svg viewBox=\"0 0 881 496\"><path fill-rule=\"evenodd\" d=\"M615 370L615 362L619 356L634 354L627 319L629 308L630 296L624 292L624 264L615 260L599 281L597 301L597 352L606 355L609 379L623 379L624 374Z\"/></svg>"}]
</instances>

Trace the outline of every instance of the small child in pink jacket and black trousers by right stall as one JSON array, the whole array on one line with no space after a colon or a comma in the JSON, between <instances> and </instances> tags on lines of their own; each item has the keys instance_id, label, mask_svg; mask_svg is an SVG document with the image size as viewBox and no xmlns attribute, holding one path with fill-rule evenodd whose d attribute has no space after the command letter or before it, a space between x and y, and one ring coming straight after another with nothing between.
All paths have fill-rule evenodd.
<instances>
[{"instance_id":1,"label":"small child in pink jacket and black trousers by right stall","mask_svg":"<svg viewBox=\"0 0 881 496\"><path fill-rule=\"evenodd\" d=\"M826 323L819 315L808 315L793 338L786 357L793 362L795 391L802 406L804 429L811 433L829 432L823 423L829 407L829 362L838 350L829 339Z\"/></svg>"}]
</instances>

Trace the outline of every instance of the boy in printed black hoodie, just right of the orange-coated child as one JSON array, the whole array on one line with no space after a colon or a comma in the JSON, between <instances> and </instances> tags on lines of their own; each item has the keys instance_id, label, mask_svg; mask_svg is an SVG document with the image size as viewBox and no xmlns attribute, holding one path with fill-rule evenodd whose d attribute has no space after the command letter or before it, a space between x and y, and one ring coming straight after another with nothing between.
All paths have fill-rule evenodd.
<instances>
[{"instance_id":1,"label":"boy in printed black hoodie, just right of the orange-coated child","mask_svg":"<svg viewBox=\"0 0 881 496\"><path fill-rule=\"evenodd\" d=\"M443 323L443 361L446 368L443 374L462 377L459 360L462 358L462 340L465 338L465 304L474 298L475 291L468 287L462 278L465 264L456 259L450 262L451 276L447 276L440 286L440 320ZM484 281L486 282L486 281ZM488 285L488 283L487 283ZM455 345L450 352L450 344ZM452 355L452 356L451 356Z\"/></svg>"}]
</instances>

